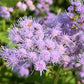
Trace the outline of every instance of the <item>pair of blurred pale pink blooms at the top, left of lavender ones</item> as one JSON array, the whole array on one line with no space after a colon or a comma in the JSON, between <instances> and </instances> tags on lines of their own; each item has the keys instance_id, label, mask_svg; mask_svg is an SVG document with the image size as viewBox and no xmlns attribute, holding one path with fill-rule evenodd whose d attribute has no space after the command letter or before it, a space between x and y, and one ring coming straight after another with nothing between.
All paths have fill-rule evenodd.
<instances>
[{"instance_id":1,"label":"pair of blurred pale pink blooms at the top, left of lavender ones","mask_svg":"<svg viewBox=\"0 0 84 84\"><path fill-rule=\"evenodd\" d=\"M23 10L23 11L26 11L27 6L29 7L29 9L30 9L31 11L34 11L34 10L35 10L35 6L34 6L32 0L25 0L25 2L26 2L26 3L23 3L23 2L21 2L21 1L19 1L19 2L16 4L16 6L17 6L19 9Z\"/></svg>"}]
</instances>

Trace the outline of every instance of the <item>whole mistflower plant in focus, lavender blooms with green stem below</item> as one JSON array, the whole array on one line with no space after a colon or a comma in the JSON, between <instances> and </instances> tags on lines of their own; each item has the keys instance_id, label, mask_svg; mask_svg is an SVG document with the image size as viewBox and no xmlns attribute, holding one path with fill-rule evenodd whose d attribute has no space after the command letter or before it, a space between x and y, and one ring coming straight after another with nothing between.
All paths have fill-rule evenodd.
<instances>
[{"instance_id":1,"label":"whole mistflower plant in focus, lavender blooms with green stem below","mask_svg":"<svg viewBox=\"0 0 84 84\"><path fill-rule=\"evenodd\" d=\"M61 73L76 70L79 80L83 81L84 31L80 20L78 22L72 13L83 4L71 4L69 12L60 15L52 14L51 17L38 19L26 16L20 18L9 32L14 47L2 47L1 55L6 65L26 77L34 71L39 71L41 76L43 72L51 71L56 76L54 84L57 84ZM58 70L54 71L53 67Z\"/></svg>"}]
</instances>

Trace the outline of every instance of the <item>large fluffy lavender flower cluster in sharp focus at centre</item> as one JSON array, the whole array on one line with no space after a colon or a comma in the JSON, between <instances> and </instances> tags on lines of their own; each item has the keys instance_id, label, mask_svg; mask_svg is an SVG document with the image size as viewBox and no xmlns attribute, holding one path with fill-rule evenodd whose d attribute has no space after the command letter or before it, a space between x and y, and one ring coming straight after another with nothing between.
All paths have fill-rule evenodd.
<instances>
[{"instance_id":1,"label":"large fluffy lavender flower cluster in sharp focus at centre","mask_svg":"<svg viewBox=\"0 0 84 84\"><path fill-rule=\"evenodd\" d=\"M84 34L71 29L71 22L66 14L37 21L31 17L20 18L9 34L16 47L2 52L6 64L21 76L29 75L32 67L42 75L51 63L73 67L80 49L83 50Z\"/></svg>"}]
</instances>

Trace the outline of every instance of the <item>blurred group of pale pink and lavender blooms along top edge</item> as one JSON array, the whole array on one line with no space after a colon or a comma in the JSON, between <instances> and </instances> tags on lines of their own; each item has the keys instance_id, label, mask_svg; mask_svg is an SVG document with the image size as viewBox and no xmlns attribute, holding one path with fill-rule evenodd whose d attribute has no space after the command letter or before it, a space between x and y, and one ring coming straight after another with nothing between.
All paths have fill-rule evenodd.
<instances>
[{"instance_id":1,"label":"blurred group of pale pink and lavender blooms along top edge","mask_svg":"<svg viewBox=\"0 0 84 84\"><path fill-rule=\"evenodd\" d=\"M25 2L26 3L19 1L16 6L23 11L26 11L28 6L31 11L36 11L36 14L39 14L40 12L48 13L50 11L49 6L53 3L52 0L38 0L37 7L35 7L32 0L25 0Z\"/></svg>"}]
</instances>

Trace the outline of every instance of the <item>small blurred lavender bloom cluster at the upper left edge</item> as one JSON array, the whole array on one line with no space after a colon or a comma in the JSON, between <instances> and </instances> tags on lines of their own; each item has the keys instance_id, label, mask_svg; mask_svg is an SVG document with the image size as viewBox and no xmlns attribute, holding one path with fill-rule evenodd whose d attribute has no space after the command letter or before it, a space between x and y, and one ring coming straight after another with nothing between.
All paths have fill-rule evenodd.
<instances>
[{"instance_id":1,"label":"small blurred lavender bloom cluster at the upper left edge","mask_svg":"<svg viewBox=\"0 0 84 84\"><path fill-rule=\"evenodd\" d=\"M7 7L4 7L4 6L0 6L0 16L7 19L7 18L10 18L10 13L13 12L13 8L10 7L10 8L7 8Z\"/></svg>"}]
</instances>

